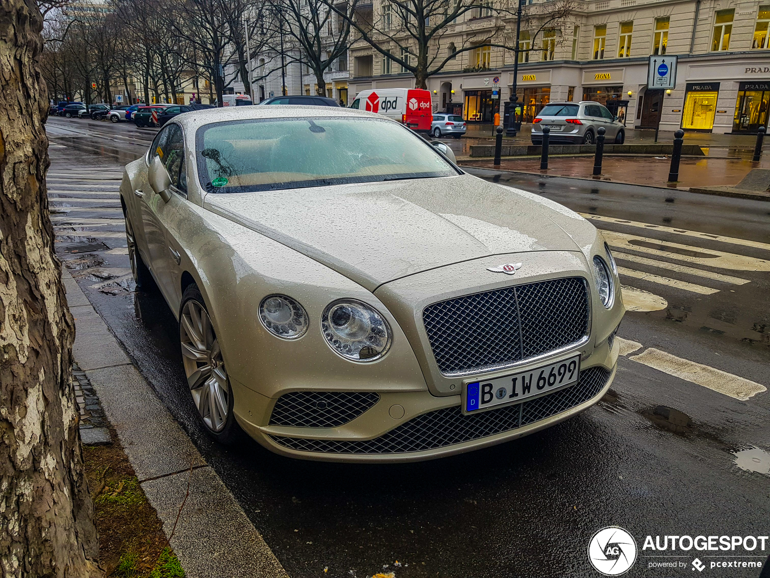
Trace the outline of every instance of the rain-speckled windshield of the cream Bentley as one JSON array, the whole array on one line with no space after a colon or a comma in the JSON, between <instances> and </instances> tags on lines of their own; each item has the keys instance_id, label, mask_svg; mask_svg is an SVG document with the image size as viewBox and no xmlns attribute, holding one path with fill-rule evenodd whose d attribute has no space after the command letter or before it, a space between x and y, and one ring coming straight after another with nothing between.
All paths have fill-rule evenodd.
<instances>
[{"instance_id":1,"label":"rain-speckled windshield of the cream Bentley","mask_svg":"<svg viewBox=\"0 0 770 578\"><path fill-rule=\"evenodd\" d=\"M236 120L196 134L209 193L320 187L456 175L430 144L380 119Z\"/></svg>"}]
</instances>

